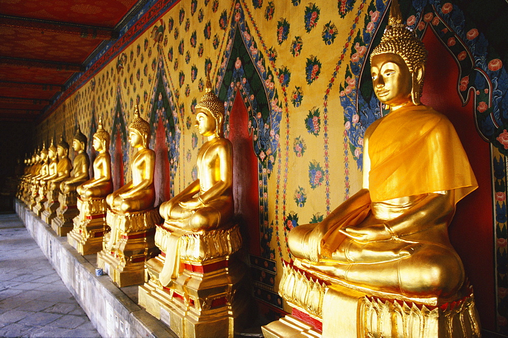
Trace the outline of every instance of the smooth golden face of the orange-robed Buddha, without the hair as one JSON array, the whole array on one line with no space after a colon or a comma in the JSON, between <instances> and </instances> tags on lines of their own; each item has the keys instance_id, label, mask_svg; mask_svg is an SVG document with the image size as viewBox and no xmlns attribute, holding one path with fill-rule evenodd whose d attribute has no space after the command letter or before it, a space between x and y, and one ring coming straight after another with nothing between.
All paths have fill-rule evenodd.
<instances>
[{"instance_id":1,"label":"smooth golden face of the orange-robed Buddha, without the hair","mask_svg":"<svg viewBox=\"0 0 508 338\"><path fill-rule=\"evenodd\" d=\"M411 101L411 73L399 55L374 55L370 71L374 93L382 103L393 107Z\"/></svg>"}]
</instances>

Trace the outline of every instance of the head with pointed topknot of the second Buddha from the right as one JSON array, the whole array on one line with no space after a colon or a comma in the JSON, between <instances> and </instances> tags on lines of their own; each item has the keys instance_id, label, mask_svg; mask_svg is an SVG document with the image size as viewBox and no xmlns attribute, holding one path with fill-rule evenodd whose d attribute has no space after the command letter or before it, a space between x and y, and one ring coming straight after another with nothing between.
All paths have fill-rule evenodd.
<instances>
[{"instance_id":1,"label":"head with pointed topknot of the second Buddha from the right","mask_svg":"<svg viewBox=\"0 0 508 338\"><path fill-rule=\"evenodd\" d=\"M206 90L200 102L196 105L196 124L203 136L221 138L224 136L224 102L213 93L210 77L206 77Z\"/></svg>"}]
</instances>

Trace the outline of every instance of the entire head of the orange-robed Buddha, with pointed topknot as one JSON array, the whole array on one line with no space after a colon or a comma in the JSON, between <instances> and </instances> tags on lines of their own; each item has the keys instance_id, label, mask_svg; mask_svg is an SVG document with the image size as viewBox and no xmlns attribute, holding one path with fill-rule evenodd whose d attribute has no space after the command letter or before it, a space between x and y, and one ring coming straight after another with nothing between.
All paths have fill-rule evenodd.
<instances>
[{"instance_id":1,"label":"entire head of the orange-robed Buddha, with pointed topknot","mask_svg":"<svg viewBox=\"0 0 508 338\"><path fill-rule=\"evenodd\" d=\"M423 42L403 23L398 2L393 0L381 42L370 54L377 98L389 106L420 105L426 58Z\"/></svg>"}]
</instances>

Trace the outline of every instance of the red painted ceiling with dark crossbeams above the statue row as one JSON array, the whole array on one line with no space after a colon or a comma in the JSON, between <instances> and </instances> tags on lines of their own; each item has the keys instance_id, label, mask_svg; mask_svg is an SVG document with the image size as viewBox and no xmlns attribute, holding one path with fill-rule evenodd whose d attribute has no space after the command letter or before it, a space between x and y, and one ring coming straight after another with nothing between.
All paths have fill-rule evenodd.
<instances>
[{"instance_id":1,"label":"red painted ceiling with dark crossbeams above the statue row","mask_svg":"<svg viewBox=\"0 0 508 338\"><path fill-rule=\"evenodd\" d=\"M41 116L101 42L118 37L137 3L0 0L0 121Z\"/></svg>"}]
</instances>

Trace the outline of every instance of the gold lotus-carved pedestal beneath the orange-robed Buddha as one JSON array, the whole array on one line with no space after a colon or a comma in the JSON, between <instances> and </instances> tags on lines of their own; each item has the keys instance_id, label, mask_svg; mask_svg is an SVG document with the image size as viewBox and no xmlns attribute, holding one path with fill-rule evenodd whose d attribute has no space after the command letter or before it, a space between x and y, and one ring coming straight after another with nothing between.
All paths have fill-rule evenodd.
<instances>
[{"instance_id":1,"label":"gold lotus-carved pedestal beneath the orange-robed Buddha","mask_svg":"<svg viewBox=\"0 0 508 338\"><path fill-rule=\"evenodd\" d=\"M299 261L295 261L295 265ZM262 327L265 337L410 336L480 337L480 321L470 286L456 299L402 295L331 283L319 273L284 264L279 294L292 316ZM310 327L310 329L309 329ZM309 334L312 333L312 334Z\"/></svg>"}]
</instances>

